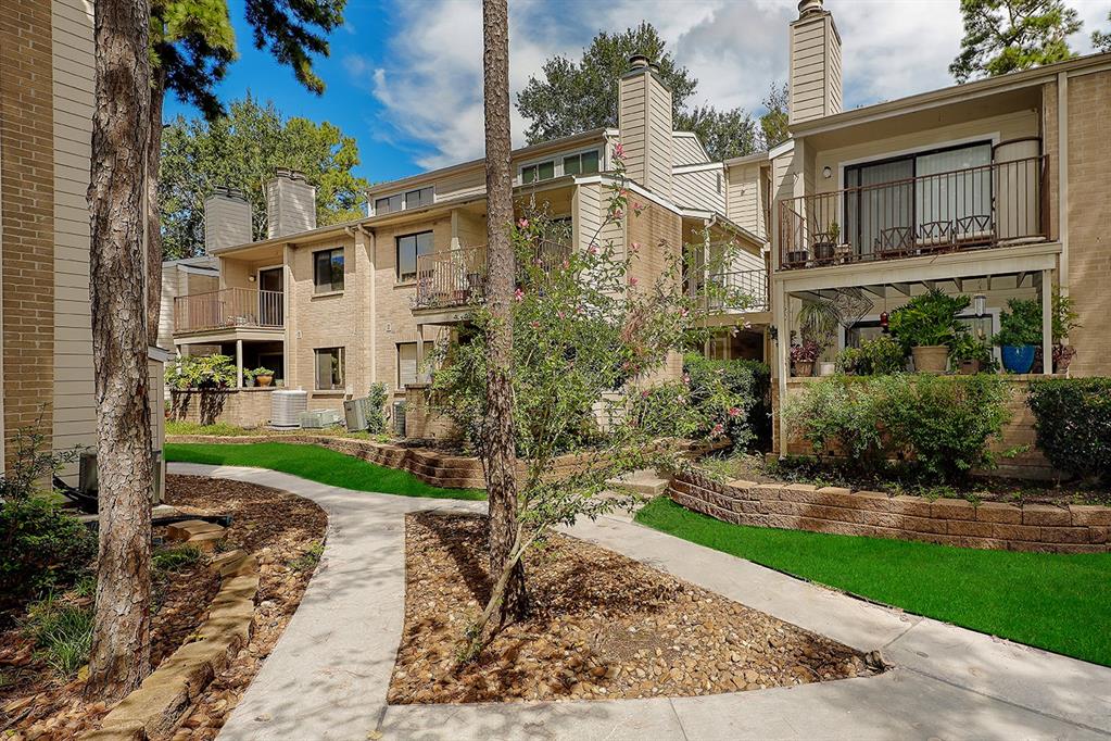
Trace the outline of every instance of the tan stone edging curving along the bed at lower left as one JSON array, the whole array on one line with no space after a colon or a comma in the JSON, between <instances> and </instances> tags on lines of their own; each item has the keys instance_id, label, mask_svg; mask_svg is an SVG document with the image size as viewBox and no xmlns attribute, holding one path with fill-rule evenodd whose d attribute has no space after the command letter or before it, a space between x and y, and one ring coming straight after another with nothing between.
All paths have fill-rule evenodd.
<instances>
[{"instance_id":1,"label":"tan stone edging curving along the bed at lower left","mask_svg":"<svg viewBox=\"0 0 1111 741\"><path fill-rule=\"evenodd\" d=\"M179 522L171 528L168 533L171 540L209 551L223 535L222 528L200 520ZM169 738L209 682L250 641L259 591L258 561L236 550L214 557L210 565L219 570L222 581L208 618L197 629L199 639L170 654L138 690L104 717L99 730L81 738L97 741Z\"/></svg>"}]
</instances>

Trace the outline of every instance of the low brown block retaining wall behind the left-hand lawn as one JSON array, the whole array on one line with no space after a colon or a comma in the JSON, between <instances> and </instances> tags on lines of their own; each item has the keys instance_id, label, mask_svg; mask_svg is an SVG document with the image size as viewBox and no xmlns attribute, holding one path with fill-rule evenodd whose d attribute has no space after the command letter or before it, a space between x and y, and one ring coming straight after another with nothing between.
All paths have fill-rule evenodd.
<instances>
[{"instance_id":1,"label":"low brown block retaining wall behind the left-hand lawn","mask_svg":"<svg viewBox=\"0 0 1111 741\"><path fill-rule=\"evenodd\" d=\"M360 460L408 471L424 483L441 489L486 489L482 461L468 455L452 455L429 448L408 448L392 443L339 438L327 434L256 434L256 435L211 435L174 434L167 435L167 442L201 442L223 444L251 444L257 442L288 442L320 445L336 452L353 455ZM688 443L692 454L702 454L722 447L722 443L697 445ZM581 470L588 455L567 453L553 461L553 475L570 475ZM518 463L523 475L524 463Z\"/></svg>"}]
</instances>

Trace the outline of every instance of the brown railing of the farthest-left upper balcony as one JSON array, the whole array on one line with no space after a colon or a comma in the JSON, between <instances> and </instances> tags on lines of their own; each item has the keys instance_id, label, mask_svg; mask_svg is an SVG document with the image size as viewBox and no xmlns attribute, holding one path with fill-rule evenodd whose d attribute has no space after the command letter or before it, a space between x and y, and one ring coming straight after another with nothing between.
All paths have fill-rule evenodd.
<instances>
[{"instance_id":1,"label":"brown railing of the farthest-left upper balcony","mask_svg":"<svg viewBox=\"0 0 1111 741\"><path fill-rule=\"evenodd\" d=\"M284 324L281 291L226 288L173 299L173 332L184 334L216 329L272 328Z\"/></svg>"}]
</instances>

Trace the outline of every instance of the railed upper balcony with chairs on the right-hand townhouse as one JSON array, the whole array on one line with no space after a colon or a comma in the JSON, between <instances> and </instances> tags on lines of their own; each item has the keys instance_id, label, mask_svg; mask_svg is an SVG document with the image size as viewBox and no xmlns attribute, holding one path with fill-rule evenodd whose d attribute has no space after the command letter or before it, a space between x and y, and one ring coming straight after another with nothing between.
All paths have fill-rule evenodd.
<instances>
[{"instance_id":1,"label":"railed upper balcony with chairs on the right-hand townhouse","mask_svg":"<svg viewBox=\"0 0 1111 741\"><path fill-rule=\"evenodd\" d=\"M779 269L1049 240L1049 159L1009 162L779 202Z\"/></svg>"}]
</instances>

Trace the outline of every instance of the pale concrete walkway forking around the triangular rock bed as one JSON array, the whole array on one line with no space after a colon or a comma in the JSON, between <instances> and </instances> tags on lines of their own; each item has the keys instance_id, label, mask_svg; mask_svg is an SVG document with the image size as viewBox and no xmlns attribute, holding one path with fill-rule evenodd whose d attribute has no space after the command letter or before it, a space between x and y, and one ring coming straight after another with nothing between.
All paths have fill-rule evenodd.
<instances>
[{"instance_id":1,"label":"pale concrete walkway forking around the triangular rock bed","mask_svg":"<svg viewBox=\"0 0 1111 741\"><path fill-rule=\"evenodd\" d=\"M486 504L258 469L173 463L170 472L284 489L329 515L320 568L221 739L1111 739L1111 669L869 604L619 515L569 532L862 651L881 649L897 668L701 698L387 705L404 619L404 515Z\"/></svg>"}]
</instances>

